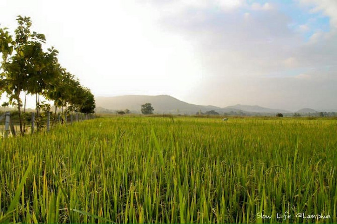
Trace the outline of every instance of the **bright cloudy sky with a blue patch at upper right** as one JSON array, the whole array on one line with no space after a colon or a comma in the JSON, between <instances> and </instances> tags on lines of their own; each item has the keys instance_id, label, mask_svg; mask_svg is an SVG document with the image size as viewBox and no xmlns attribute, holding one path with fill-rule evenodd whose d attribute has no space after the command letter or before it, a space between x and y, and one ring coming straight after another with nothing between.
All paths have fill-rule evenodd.
<instances>
[{"instance_id":1,"label":"bright cloudy sky with a blue patch at upper right","mask_svg":"<svg viewBox=\"0 0 337 224\"><path fill-rule=\"evenodd\" d=\"M0 9L12 33L16 16L31 17L95 96L337 110L335 0L1 0Z\"/></svg>"}]
</instances>

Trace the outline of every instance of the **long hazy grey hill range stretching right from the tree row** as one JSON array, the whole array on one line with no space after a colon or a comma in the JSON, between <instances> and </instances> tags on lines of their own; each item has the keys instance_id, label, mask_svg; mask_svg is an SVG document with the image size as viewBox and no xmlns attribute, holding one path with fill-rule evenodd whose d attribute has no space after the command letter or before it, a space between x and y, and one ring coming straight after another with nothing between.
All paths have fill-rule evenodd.
<instances>
[{"instance_id":1,"label":"long hazy grey hill range stretching right from the tree row","mask_svg":"<svg viewBox=\"0 0 337 224\"><path fill-rule=\"evenodd\" d=\"M270 109L260 107L258 105L233 105L224 108L216 106L203 106L186 103L174 97L167 95L159 96L143 96L143 95L126 95L116 97L96 97L96 106L99 108L97 112L116 111L129 109L132 113L140 113L141 105L144 103L151 103L154 108L154 113L172 113L172 114L196 114L201 111L203 113L214 110L219 114L223 113L245 113L247 115L254 115L256 113L291 113L290 111L281 109Z\"/></svg>"}]
</instances>

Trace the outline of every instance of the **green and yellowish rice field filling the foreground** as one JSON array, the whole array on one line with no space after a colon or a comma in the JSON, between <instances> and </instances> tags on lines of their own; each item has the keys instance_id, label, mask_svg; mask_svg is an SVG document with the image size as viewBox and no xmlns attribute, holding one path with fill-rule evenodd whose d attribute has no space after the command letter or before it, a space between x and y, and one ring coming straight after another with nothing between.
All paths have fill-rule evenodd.
<instances>
[{"instance_id":1,"label":"green and yellowish rice field filling the foreground","mask_svg":"<svg viewBox=\"0 0 337 224\"><path fill-rule=\"evenodd\" d=\"M0 139L0 222L336 223L336 166L333 119L99 118Z\"/></svg>"}]
</instances>

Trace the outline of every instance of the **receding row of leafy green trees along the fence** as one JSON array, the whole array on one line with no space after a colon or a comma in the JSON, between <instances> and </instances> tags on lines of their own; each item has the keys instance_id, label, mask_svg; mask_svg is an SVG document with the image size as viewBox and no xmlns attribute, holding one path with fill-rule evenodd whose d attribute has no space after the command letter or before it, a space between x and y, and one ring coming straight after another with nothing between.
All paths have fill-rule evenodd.
<instances>
[{"instance_id":1,"label":"receding row of leafy green trees along the fence","mask_svg":"<svg viewBox=\"0 0 337 224\"><path fill-rule=\"evenodd\" d=\"M17 17L15 36L7 28L0 27L0 96L6 93L9 102L17 106L20 131L24 134L22 108L26 110L27 95L36 97L36 118L41 110L49 111L50 105L40 100L53 101L57 108L65 107L70 112L94 113L95 99L91 91L80 85L73 74L58 63L58 51L48 48L44 34L31 32L30 17ZM24 93L24 102L20 95Z\"/></svg>"}]
</instances>

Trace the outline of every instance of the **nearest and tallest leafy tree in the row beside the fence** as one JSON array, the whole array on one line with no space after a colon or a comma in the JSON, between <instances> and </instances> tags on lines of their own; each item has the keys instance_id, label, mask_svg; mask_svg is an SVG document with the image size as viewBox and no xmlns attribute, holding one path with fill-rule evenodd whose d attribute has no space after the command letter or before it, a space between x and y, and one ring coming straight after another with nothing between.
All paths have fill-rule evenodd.
<instances>
[{"instance_id":1,"label":"nearest and tallest leafy tree in the row beside the fence","mask_svg":"<svg viewBox=\"0 0 337 224\"><path fill-rule=\"evenodd\" d=\"M22 91L38 92L36 89L40 83L37 82L35 75L41 67L44 67L41 58L44 56L42 43L45 43L45 36L36 32L31 33L32 22L29 17L18 16L17 21L19 26L15 30L15 41L10 41L12 36L8 32L3 29L0 31L4 70L1 73L0 86L6 91L10 103L18 106L20 132L24 135L20 94Z\"/></svg>"}]
</instances>

